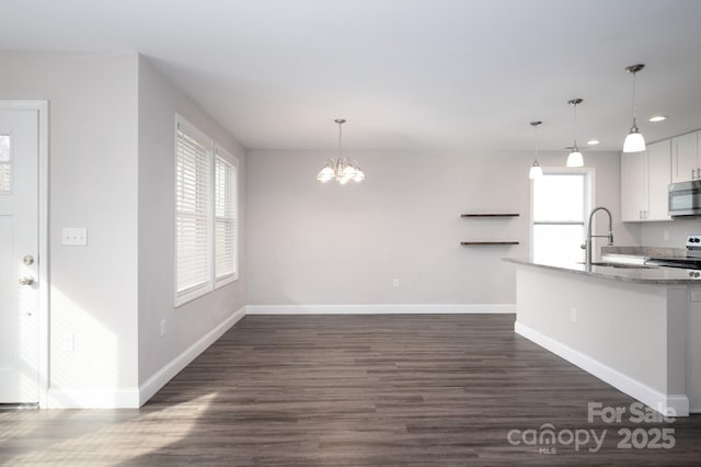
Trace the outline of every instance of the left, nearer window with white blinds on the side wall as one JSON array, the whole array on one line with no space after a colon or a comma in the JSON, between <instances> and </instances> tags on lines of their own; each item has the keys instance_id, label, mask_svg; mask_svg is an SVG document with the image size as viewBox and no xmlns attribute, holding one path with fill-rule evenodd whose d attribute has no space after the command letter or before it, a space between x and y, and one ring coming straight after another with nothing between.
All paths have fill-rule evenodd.
<instances>
[{"instance_id":1,"label":"left, nearer window with white blinds on the side wall","mask_svg":"<svg viewBox=\"0 0 701 467\"><path fill-rule=\"evenodd\" d=\"M214 288L211 172L214 143L177 118L175 149L175 306Z\"/></svg>"}]
</instances>

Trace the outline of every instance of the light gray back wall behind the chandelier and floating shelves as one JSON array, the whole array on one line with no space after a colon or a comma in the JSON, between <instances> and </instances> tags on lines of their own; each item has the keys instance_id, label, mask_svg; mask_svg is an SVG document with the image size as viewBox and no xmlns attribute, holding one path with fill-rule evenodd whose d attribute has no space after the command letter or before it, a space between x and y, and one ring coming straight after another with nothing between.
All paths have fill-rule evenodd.
<instances>
[{"instance_id":1,"label":"light gray back wall behind the chandelier and floating shelves","mask_svg":"<svg viewBox=\"0 0 701 467\"><path fill-rule=\"evenodd\" d=\"M532 152L349 151L367 179L320 184L334 151L249 151L250 305L496 305L516 301L503 257L529 254ZM565 152L545 153L562 166ZM620 219L617 153L590 152L597 204ZM515 219L461 213L515 212ZM636 227L614 224L619 244ZM461 247L462 240L519 240L517 247ZM399 278L400 288L392 287Z\"/></svg>"}]
</instances>

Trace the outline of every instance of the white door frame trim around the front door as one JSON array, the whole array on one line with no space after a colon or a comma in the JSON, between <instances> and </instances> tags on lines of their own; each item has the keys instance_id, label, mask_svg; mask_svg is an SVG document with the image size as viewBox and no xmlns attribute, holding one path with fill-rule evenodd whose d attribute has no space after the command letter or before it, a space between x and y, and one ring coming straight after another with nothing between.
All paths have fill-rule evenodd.
<instances>
[{"instance_id":1,"label":"white door frame trim around the front door","mask_svg":"<svg viewBox=\"0 0 701 467\"><path fill-rule=\"evenodd\" d=\"M49 276L48 276L48 101L0 101L2 111L38 112L38 390L39 407L47 408L49 384Z\"/></svg>"}]
</instances>

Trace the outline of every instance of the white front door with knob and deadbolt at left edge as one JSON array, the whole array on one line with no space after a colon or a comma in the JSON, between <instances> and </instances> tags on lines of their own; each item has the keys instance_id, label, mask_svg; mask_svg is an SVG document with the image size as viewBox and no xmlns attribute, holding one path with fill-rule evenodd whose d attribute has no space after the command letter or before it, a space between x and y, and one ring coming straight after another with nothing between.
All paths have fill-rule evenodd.
<instances>
[{"instance_id":1,"label":"white front door with knob and deadbolt at left edge","mask_svg":"<svg viewBox=\"0 0 701 467\"><path fill-rule=\"evenodd\" d=\"M0 110L0 403L38 398L38 111Z\"/></svg>"}]
</instances>

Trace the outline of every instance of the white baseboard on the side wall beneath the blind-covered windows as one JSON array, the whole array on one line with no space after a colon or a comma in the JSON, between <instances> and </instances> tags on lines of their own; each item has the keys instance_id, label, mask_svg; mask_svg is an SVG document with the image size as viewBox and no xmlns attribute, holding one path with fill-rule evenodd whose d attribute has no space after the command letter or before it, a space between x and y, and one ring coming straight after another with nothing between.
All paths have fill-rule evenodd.
<instances>
[{"instance_id":1,"label":"white baseboard on the side wall beneath the blind-covered windows","mask_svg":"<svg viewBox=\"0 0 701 467\"><path fill-rule=\"evenodd\" d=\"M150 398L156 395L163 386L168 384L175 375L177 375L183 368L195 360L200 353L207 350L209 345L214 344L225 332L227 332L233 324L235 324L246 314L245 307L239 308L223 322L217 326L215 329L205 334L197 342L187 348L183 353L175 358L166 363L151 375L138 390L138 401L136 407L143 406Z\"/></svg>"}]
</instances>

